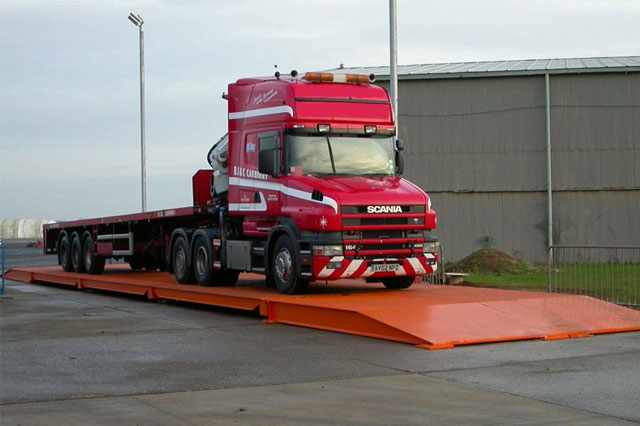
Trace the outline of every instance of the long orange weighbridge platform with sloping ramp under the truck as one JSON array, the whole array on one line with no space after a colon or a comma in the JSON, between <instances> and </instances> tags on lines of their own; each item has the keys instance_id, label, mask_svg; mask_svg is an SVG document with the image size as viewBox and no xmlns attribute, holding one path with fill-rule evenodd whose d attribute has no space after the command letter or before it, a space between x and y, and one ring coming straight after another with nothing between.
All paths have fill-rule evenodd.
<instances>
[{"instance_id":1,"label":"long orange weighbridge platform with sloping ramp under the truck","mask_svg":"<svg viewBox=\"0 0 640 426\"><path fill-rule=\"evenodd\" d=\"M556 340L640 330L640 312L587 296L476 287L312 283L309 294L284 296L264 277L243 274L233 287L180 285L163 272L110 265L102 275L60 267L15 268L7 278L54 283L203 305L257 311L267 323L291 324L410 343L425 349L525 339Z\"/></svg>"}]
</instances>

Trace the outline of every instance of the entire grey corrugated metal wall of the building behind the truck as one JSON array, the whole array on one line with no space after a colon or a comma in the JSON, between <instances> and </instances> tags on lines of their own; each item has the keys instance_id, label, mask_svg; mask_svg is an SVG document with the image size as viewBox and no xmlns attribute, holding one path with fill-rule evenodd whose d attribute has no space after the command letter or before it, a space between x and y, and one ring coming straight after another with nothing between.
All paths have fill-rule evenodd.
<instances>
[{"instance_id":1,"label":"entire grey corrugated metal wall of the building behind the truck","mask_svg":"<svg viewBox=\"0 0 640 426\"><path fill-rule=\"evenodd\" d=\"M640 245L640 72L550 74L550 97L554 243ZM405 177L431 195L446 260L543 262L544 74L401 76L398 99Z\"/></svg>"}]
</instances>

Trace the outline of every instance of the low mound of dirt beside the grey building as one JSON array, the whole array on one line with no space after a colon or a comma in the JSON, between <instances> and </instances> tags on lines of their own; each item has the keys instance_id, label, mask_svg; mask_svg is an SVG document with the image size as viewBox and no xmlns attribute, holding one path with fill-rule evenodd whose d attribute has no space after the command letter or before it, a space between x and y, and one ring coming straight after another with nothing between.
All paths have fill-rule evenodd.
<instances>
[{"instance_id":1,"label":"low mound of dirt beside the grey building","mask_svg":"<svg viewBox=\"0 0 640 426\"><path fill-rule=\"evenodd\" d=\"M537 272L538 267L520 262L500 250L485 248L471 253L458 263L447 268L449 272L466 272L475 274L515 274Z\"/></svg>"}]
</instances>

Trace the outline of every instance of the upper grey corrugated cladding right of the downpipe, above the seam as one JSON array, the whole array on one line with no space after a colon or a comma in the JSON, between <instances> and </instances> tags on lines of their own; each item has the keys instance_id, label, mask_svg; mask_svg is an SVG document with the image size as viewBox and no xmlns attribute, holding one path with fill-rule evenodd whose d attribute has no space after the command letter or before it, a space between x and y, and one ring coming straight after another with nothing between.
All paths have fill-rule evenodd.
<instances>
[{"instance_id":1,"label":"upper grey corrugated cladding right of the downpipe, above the seam","mask_svg":"<svg viewBox=\"0 0 640 426\"><path fill-rule=\"evenodd\" d=\"M640 188L640 72L552 76L550 93L553 188Z\"/></svg>"}]
</instances>

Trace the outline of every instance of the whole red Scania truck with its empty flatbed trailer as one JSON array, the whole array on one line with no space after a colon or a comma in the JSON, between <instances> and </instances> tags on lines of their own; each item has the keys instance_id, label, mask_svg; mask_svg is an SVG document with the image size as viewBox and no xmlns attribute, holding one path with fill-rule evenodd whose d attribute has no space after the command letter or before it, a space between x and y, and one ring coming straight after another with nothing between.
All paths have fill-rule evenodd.
<instances>
[{"instance_id":1,"label":"whole red Scania truck with its empty flatbed trailer","mask_svg":"<svg viewBox=\"0 0 640 426\"><path fill-rule=\"evenodd\" d=\"M387 92L373 76L306 73L229 85L229 131L193 176L193 206L44 225L67 272L108 258L180 284L264 274L286 294L366 278L407 288L437 264L429 196L400 177Z\"/></svg>"}]
</instances>

